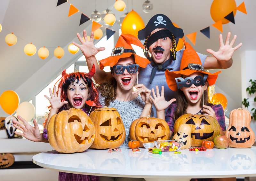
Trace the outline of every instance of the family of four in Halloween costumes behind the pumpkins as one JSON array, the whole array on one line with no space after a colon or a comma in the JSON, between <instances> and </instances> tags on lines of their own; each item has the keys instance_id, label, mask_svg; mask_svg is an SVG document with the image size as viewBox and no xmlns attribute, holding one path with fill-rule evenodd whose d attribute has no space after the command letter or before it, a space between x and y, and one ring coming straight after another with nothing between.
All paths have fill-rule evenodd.
<instances>
[{"instance_id":1,"label":"family of four in Halloween costumes behind the pumpkins","mask_svg":"<svg viewBox=\"0 0 256 181\"><path fill-rule=\"evenodd\" d=\"M166 22L156 24L155 21L159 18ZM220 71L209 73L205 69L231 67L234 52L242 46L240 43L233 48L236 35L230 41L231 34L228 33L225 43L220 35L219 50L207 49L212 56L197 53L184 39L185 49L177 51L176 39L184 36L183 30L174 27L172 21L164 14L156 14L138 33L138 38L145 40L144 45L137 37L122 34L115 48L109 52L111 56L100 60L100 64L95 55L105 48L94 46L93 35L92 32L88 41L84 30L85 41L77 33L81 44L73 42L84 54L88 69L91 71L67 74L64 70L58 88L54 86L53 91L49 89L50 97L44 95L51 104L44 132L40 133L36 120L34 120L33 127L18 116L23 124L13 122L22 133L15 132L16 134L31 141L48 142L46 128L52 115L71 107L80 108L88 114L90 107L85 104L87 100L93 100L96 104L92 110L101 106L117 109L126 131L123 146L127 146L129 142L129 128L132 121L148 115L164 119L170 127L171 136L174 122L181 115L186 113L210 115L217 119L224 134L226 127L223 107L213 105L208 98L208 88L216 82ZM131 44L143 48L146 58L137 55ZM110 66L111 71L103 71L105 66ZM176 102L173 103L174 101ZM235 178L228 179L235 180ZM60 172L59 180L144 179L98 177Z\"/></svg>"}]
</instances>

